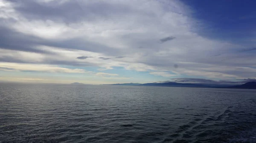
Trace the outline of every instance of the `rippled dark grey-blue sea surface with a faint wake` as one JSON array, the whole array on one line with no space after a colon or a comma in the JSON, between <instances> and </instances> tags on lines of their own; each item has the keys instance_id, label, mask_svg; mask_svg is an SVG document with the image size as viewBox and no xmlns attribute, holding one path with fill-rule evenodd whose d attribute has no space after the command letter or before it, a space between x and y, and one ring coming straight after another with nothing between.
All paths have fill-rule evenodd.
<instances>
[{"instance_id":1,"label":"rippled dark grey-blue sea surface with a faint wake","mask_svg":"<svg viewBox=\"0 0 256 143\"><path fill-rule=\"evenodd\" d=\"M0 83L0 143L256 143L256 90Z\"/></svg>"}]
</instances>

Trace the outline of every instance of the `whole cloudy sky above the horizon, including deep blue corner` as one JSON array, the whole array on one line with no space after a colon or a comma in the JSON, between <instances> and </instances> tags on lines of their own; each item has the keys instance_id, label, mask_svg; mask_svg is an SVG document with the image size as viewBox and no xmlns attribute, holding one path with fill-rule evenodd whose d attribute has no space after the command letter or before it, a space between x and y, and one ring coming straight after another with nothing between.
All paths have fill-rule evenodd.
<instances>
[{"instance_id":1,"label":"whole cloudy sky above the horizon, including deep blue corner","mask_svg":"<svg viewBox=\"0 0 256 143\"><path fill-rule=\"evenodd\" d=\"M255 0L0 0L0 81L252 81L255 5Z\"/></svg>"}]
</instances>

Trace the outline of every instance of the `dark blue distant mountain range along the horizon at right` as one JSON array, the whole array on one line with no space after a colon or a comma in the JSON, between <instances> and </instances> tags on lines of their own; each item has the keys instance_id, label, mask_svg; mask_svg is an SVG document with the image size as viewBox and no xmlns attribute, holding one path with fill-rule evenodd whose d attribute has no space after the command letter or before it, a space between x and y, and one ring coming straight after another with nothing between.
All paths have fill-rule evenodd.
<instances>
[{"instance_id":1,"label":"dark blue distant mountain range along the horizon at right","mask_svg":"<svg viewBox=\"0 0 256 143\"><path fill-rule=\"evenodd\" d=\"M125 83L125 84L105 84L105 85L126 85L126 86L155 86L155 87L208 87L208 88L240 88L240 89L256 89L256 82L247 82L242 85L220 85L220 84L192 84L192 83L177 83L177 82L165 82L165 83Z\"/></svg>"}]
</instances>

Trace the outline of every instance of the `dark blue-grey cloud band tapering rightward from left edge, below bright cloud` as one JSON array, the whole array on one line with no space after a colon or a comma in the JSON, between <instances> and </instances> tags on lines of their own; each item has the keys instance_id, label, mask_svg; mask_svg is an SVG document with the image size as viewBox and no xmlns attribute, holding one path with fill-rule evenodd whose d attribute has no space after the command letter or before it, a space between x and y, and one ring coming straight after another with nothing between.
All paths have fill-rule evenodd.
<instances>
[{"instance_id":1,"label":"dark blue-grey cloud band tapering rightward from left edge, below bright cloud","mask_svg":"<svg viewBox=\"0 0 256 143\"><path fill-rule=\"evenodd\" d=\"M0 18L0 22L3 22ZM74 44L76 43L76 44ZM46 50L41 50L35 48L38 45L45 45L50 47L58 47L70 50L86 50L96 53L105 53L108 55L115 55L121 52L110 48L99 43L87 41L81 38L65 39L65 40L49 40L38 36L32 36L29 34L23 34L14 29L8 27L8 25L0 24L0 48L8 50L35 52L35 53L48 53L48 54L58 54L54 52L49 52Z\"/></svg>"}]
</instances>

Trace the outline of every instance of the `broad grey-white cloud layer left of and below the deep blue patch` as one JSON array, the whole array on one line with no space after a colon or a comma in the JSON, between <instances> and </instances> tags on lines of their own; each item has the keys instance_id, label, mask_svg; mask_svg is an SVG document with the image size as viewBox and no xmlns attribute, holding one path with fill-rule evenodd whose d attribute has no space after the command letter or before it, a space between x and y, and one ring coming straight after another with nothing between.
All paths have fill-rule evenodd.
<instances>
[{"instance_id":1,"label":"broad grey-white cloud layer left of and below the deep blue patch","mask_svg":"<svg viewBox=\"0 0 256 143\"><path fill-rule=\"evenodd\" d=\"M200 36L193 11L178 0L0 0L0 70L256 78L253 45ZM106 74L95 75L116 77Z\"/></svg>"}]
</instances>

